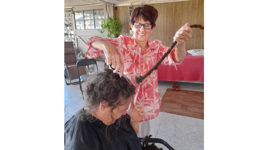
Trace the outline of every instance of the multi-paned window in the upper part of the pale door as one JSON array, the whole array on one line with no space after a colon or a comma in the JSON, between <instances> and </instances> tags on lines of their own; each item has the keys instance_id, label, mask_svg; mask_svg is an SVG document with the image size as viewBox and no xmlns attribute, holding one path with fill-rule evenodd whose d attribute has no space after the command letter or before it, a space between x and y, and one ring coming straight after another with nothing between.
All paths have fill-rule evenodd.
<instances>
[{"instance_id":1,"label":"multi-paned window in the upper part of the pale door","mask_svg":"<svg viewBox=\"0 0 268 150\"><path fill-rule=\"evenodd\" d=\"M99 29L103 20L103 9L75 11L76 30Z\"/></svg>"}]
</instances>

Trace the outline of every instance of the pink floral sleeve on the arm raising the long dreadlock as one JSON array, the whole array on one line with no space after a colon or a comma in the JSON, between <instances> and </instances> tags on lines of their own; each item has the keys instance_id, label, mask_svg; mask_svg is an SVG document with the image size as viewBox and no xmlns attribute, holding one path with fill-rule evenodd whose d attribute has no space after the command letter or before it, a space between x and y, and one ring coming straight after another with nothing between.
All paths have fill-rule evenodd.
<instances>
[{"instance_id":1,"label":"pink floral sleeve on the arm raising the long dreadlock","mask_svg":"<svg viewBox=\"0 0 268 150\"><path fill-rule=\"evenodd\" d=\"M169 47L166 47L165 45L162 44L161 41L158 41L158 40L155 40L154 43L155 43L156 48L158 49L158 59L160 60L163 57L163 55L166 53L166 51L168 51ZM161 64L162 65L175 66L176 70L178 70L176 65L181 64L182 61L179 62L179 63L175 63L173 61L173 53L174 53L174 51L175 51L175 48L173 48L171 50L171 53L168 54L168 56L161 62Z\"/></svg>"}]
</instances>

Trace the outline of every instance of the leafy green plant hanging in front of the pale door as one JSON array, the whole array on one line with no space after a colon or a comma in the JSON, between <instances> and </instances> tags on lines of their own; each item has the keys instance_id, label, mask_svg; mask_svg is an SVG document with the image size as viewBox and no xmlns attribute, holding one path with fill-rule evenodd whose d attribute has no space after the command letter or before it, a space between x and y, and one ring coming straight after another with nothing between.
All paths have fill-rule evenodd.
<instances>
[{"instance_id":1,"label":"leafy green plant hanging in front of the pale door","mask_svg":"<svg viewBox=\"0 0 268 150\"><path fill-rule=\"evenodd\" d=\"M116 36L119 34L121 30L121 22L119 20L114 20L113 18L109 17L101 22L101 26L99 26L98 31L100 33L105 33L105 31L108 33L107 37L111 38L111 35L113 34ZM101 29L102 28L102 29Z\"/></svg>"}]
</instances>

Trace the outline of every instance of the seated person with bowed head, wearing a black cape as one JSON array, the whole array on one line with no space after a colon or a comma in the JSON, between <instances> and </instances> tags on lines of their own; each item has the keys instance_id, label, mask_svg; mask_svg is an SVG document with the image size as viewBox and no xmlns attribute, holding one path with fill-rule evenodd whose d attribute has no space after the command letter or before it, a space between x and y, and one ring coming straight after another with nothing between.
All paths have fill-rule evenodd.
<instances>
[{"instance_id":1,"label":"seated person with bowed head, wearing a black cape","mask_svg":"<svg viewBox=\"0 0 268 150\"><path fill-rule=\"evenodd\" d=\"M64 149L142 150L137 133L145 112L133 102L135 87L110 69L84 84L85 107L64 124Z\"/></svg>"}]
</instances>

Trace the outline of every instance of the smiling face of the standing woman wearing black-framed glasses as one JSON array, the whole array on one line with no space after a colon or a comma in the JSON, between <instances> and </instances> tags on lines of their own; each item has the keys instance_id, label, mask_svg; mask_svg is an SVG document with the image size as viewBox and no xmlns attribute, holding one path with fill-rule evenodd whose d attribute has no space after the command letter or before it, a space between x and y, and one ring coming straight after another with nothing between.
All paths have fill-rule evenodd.
<instances>
[{"instance_id":1,"label":"smiling face of the standing woman wearing black-framed glasses","mask_svg":"<svg viewBox=\"0 0 268 150\"><path fill-rule=\"evenodd\" d=\"M136 21L136 22L138 22L140 24L151 24L150 21L144 21L142 19L142 17L140 17L139 21ZM135 40L138 41L138 42L144 42L144 41L147 42L150 34L152 34L152 31L153 31L153 29L155 27L155 26L153 26L152 29L147 30L147 29L144 29L144 26L142 26L141 28L136 28L136 27L133 26L133 24L131 22L129 22L129 25L132 28Z\"/></svg>"}]
</instances>

